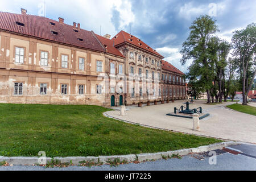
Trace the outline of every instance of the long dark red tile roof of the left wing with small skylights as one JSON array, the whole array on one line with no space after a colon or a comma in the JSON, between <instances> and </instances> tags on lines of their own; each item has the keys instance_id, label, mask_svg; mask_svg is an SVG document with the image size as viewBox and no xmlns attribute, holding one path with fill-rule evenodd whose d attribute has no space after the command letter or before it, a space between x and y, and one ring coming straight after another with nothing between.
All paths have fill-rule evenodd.
<instances>
[{"instance_id":1,"label":"long dark red tile roof of the left wing with small skylights","mask_svg":"<svg viewBox=\"0 0 256 182\"><path fill-rule=\"evenodd\" d=\"M20 26L16 22L23 23L24 26ZM50 22L55 25L51 25ZM73 26L42 16L0 12L0 30L105 52L93 32L82 29L75 32ZM53 34L52 31L57 32L58 35Z\"/></svg>"}]
</instances>

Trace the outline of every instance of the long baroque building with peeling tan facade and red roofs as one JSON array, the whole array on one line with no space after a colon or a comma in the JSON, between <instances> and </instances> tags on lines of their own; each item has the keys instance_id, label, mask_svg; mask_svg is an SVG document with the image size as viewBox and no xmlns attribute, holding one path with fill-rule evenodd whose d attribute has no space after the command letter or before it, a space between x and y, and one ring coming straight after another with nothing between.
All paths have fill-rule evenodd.
<instances>
[{"instance_id":1,"label":"long baroque building with peeling tan facade and red roofs","mask_svg":"<svg viewBox=\"0 0 256 182\"><path fill-rule=\"evenodd\" d=\"M184 74L163 58L125 31L110 39L63 18L0 12L2 103L115 106L184 99Z\"/></svg>"}]
</instances>

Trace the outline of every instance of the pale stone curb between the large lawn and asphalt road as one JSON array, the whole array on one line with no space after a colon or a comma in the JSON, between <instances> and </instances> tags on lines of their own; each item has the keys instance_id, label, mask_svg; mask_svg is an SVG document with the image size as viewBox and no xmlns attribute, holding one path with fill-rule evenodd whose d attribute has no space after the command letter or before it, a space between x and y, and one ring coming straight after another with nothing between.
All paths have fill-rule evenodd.
<instances>
[{"instance_id":1,"label":"pale stone curb between the large lawn and asphalt road","mask_svg":"<svg viewBox=\"0 0 256 182\"><path fill-rule=\"evenodd\" d=\"M67 157L67 158L46 158L46 163L51 162L52 160L59 160L61 163L71 163L75 165L79 165L80 162L94 162L94 163L109 163L109 161L113 162L115 159L119 159L120 161L125 160L126 162L145 162L148 160L159 160L164 159L164 157L171 157L172 155L188 155L191 153L199 153L199 152L208 152L212 150L222 149L224 147L230 145L241 144L241 142L221 142L210 144L209 146L200 146L197 148L188 148L181 149L176 151L167 151L167 152L156 152L156 153L147 153L147 154L130 154L130 155L113 155L113 156L87 156L87 157ZM0 156L0 162L7 162L13 165L35 165L39 163L40 157L5 157Z\"/></svg>"}]
</instances>

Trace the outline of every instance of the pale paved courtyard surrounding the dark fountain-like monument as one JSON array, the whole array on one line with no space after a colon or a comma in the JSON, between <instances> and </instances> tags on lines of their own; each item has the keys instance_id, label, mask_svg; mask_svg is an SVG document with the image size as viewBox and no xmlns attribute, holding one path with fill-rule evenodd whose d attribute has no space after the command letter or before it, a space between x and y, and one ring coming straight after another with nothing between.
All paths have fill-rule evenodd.
<instances>
[{"instance_id":1,"label":"pale paved courtyard surrounding the dark fountain-like monument","mask_svg":"<svg viewBox=\"0 0 256 182\"><path fill-rule=\"evenodd\" d=\"M189 134L205 135L228 140L256 143L256 116L240 113L225 107L233 104L207 105L206 101L196 101L189 105L190 109L203 107L203 113L210 116L200 120L201 131L193 131L193 120L166 115L174 112L174 107L180 107L185 100L174 103L159 104L151 106L128 106L126 115L119 115L119 110L108 111L106 114L111 117L129 122L140 123L160 129L168 129ZM118 108L115 108L118 109Z\"/></svg>"}]
</instances>

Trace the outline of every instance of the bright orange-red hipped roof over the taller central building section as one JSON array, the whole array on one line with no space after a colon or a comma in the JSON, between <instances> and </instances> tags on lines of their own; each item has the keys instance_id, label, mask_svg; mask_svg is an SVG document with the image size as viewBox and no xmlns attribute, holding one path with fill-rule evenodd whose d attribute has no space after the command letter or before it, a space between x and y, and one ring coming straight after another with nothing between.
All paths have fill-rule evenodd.
<instances>
[{"instance_id":1,"label":"bright orange-red hipped roof over the taller central building section","mask_svg":"<svg viewBox=\"0 0 256 182\"><path fill-rule=\"evenodd\" d=\"M162 55L160 55L158 52L156 52L154 49L152 49L151 47L147 46L147 44L145 44L144 42L142 42L141 39L128 34L125 31L120 31L117 35L115 35L112 40L114 41L114 46L117 46L121 43L127 42L130 44L133 44L136 47L142 48L148 52L154 53L155 55L158 55L160 57L163 57Z\"/></svg>"}]
</instances>

